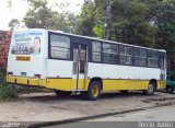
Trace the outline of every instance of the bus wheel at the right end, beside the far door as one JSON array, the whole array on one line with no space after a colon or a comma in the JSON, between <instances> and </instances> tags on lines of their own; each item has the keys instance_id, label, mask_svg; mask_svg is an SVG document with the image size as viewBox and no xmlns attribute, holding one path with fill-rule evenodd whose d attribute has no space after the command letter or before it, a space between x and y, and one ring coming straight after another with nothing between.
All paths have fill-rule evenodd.
<instances>
[{"instance_id":1,"label":"bus wheel at the right end, beside the far door","mask_svg":"<svg viewBox=\"0 0 175 128\"><path fill-rule=\"evenodd\" d=\"M155 83L154 82L150 82L149 85L148 85L148 90L143 90L143 94L144 95L153 95L155 90L156 90Z\"/></svg>"}]
</instances>

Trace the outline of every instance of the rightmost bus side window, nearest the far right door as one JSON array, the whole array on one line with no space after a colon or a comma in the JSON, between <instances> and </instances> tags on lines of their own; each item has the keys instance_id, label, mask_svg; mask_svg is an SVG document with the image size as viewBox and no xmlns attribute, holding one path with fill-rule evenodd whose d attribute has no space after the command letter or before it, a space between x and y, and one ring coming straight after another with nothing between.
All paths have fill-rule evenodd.
<instances>
[{"instance_id":1,"label":"rightmost bus side window, nearest the far right door","mask_svg":"<svg viewBox=\"0 0 175 128\"><path fill-rule=\"evenodd\" d=\"M156 51L148 51L148 67L158 67Z\"/></svg>"}]
</instances>

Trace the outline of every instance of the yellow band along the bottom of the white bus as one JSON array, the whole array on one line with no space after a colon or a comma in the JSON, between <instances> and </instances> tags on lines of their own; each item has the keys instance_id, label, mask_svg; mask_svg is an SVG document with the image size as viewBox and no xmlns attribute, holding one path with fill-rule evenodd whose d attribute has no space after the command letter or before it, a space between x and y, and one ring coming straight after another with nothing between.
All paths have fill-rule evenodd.
<instances>
[{"instance_id":1,"label":"yellow band along the bottom of the white bus","mask_svg":"<svg viewBox=\"0 0 175 128\"><path fill-rule=\"evenodd\" d=\"M7 75L7 82L26 85L39 85L47 89L56 89L62 91L85 90L89 89L90 80L79 80L77 86L75 79L30 79L21 77ZM147 90L149 80L103 80L103 91L117 91L117 90ZM158 89L165 89L166 82L158 81ZM78 89L77 89L78 88Z\"/></svg>"}]
</instances>

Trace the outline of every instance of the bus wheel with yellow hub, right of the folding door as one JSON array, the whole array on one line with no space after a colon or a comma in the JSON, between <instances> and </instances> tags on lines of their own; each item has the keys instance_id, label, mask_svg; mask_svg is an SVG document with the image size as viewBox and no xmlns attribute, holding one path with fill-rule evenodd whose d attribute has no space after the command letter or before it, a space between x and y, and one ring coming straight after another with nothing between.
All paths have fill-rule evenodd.
<instances>
[{"instance_id":1,"label":"bus wheel with yellow hub, right of the folding door","mask_svg":"<svg viewBox=\"0 0 175 128\"><path fill-rule=\"evenodd\" d=\"M92 81L88 90L88 100L96 101L101 95L101 84L97 81Z\"/></svg>"}]
</instances>

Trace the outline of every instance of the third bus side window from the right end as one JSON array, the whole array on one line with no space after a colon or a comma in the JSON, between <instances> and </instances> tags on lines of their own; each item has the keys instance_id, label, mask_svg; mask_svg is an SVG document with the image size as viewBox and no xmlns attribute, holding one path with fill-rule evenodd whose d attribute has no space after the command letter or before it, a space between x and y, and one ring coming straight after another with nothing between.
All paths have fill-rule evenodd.
<instances>
[{"instance_id":1,"label":"third bus side window from the right end","mask_svg":"<svg viewBox=\"0 0 175 128\"><path fill-rule=\"evenodd\" d=\"M133 48L119 46L119 62L121 65L132 65Z\"/></svg>"}]
</instances>

